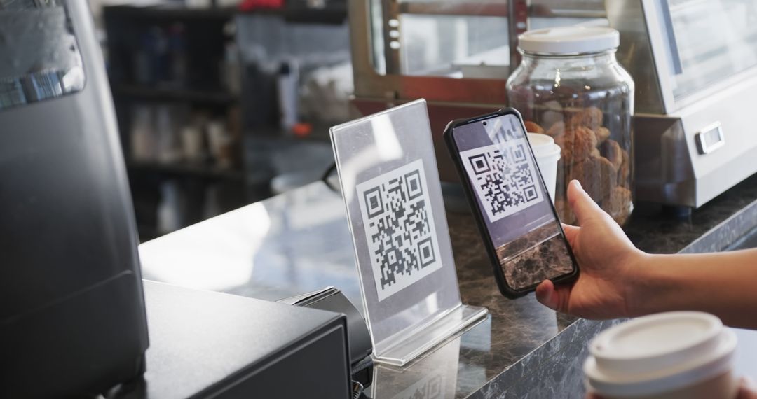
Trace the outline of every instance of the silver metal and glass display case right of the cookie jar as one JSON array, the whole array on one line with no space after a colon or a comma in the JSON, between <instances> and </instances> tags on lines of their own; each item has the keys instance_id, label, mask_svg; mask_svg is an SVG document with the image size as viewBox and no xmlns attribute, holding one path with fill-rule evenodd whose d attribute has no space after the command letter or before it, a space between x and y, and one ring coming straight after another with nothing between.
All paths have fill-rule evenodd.
<instances>
[{"instance_id":1,"label":"silver metal and glass display case right of the cookie jar","mask_svg":"<svg viewBox=\"0 0 757 399\"><path fill-rule=\"evenodd\" d=\"M636 82L637 199L696 208L757 172L757 4L606 4Z\"/></svg>"}]
</instances>

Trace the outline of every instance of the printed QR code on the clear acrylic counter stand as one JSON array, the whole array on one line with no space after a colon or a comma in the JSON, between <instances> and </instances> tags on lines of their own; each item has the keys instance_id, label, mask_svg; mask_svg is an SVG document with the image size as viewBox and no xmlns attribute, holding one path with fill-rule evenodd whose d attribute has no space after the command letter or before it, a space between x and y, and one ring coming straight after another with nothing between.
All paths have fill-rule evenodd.
<instances>
[{"instance_id":1,"label":"printed QR code on the clear acrylic counter stand","mask_svg":"<svg viewBox=\"0 0 757 399\"><path fill-rule=\"evenodd\" d=\"M441 268L423 161L357 185L378 300Z\"/></svg>"}]
</instances>

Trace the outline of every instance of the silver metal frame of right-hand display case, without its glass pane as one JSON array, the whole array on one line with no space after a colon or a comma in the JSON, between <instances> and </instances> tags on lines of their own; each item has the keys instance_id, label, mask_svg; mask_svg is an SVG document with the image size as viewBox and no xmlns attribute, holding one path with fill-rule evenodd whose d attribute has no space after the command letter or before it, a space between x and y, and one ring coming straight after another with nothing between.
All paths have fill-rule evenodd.
<instances>
[{"instance_id":1,"label":"silver metal frame of right-hand display case, without its glass pane","mask_svg":"<svg viewBox=\"0 0 757 399\"><path fill-rule=\"evenodd\" d=\"M637 88L634 145L643 151L635 152L636 196L697 208L757 172L757 136L750 131L757 67L675 98L669 71L678 45L663 28L671 26L670 10L655 2L607 3L610 26L621 33L618 60ZM702 137L714 125L721 141L705 148Z\"/></svg>"}]
</instances>

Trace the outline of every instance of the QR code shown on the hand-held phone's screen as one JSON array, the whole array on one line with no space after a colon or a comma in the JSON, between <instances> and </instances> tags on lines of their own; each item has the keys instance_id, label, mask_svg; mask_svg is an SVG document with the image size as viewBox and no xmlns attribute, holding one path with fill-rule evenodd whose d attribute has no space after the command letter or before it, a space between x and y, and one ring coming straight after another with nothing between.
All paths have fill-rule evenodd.
<instances>
[{"instance_id":1,"label":"QR code shown on the hand-held phone's screen","mask_svg":"<svg viewBox=\"0 0 757 399\"><path fill-rule=\"evenodd\" d=\"M460 156L490 222L544 199L526 138L466 150Z\"/></svg>"}]
</instances>

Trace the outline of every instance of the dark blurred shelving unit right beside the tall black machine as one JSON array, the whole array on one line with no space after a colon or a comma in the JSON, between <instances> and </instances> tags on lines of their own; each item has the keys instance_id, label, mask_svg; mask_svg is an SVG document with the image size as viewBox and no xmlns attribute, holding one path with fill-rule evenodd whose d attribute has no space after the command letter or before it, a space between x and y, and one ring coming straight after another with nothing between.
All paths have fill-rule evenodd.
<instances>
[{"instance_id":1,"label":"dark blurred shelving unit right beside the tall black machine","mask_svg":"<svg viewBox=\"0 0 757 399\"><path fill-rule=\"evenodd\" d=\"M104 53L142 241L257 199L242 167L235 15L176 3L104 8Z\"/></svg>"}]
</instances>

